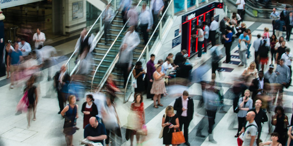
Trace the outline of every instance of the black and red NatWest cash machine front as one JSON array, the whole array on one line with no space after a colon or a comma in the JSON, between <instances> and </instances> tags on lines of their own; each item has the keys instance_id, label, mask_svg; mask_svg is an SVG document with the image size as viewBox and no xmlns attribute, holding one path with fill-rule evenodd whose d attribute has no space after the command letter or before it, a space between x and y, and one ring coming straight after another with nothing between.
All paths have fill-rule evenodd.
<instances>
[{"instance_id":1,"label":"black and red NatWest cash machine front","mask_svg":"<svg viewBox=\"0 0 293 146\"><path fill-rule=\"evenodd\" d=\"M182 42L181 42L181 50L185 49L188 52L188 57L195 55L197 50L197 38L191 37L191 32L196 31L195 26L200 25L204 30L203 22L206 21L208 25L210 24L210 18L214 17L215 9L223 8L222 2L213 2L207 6L199 8L195 11L192 11L186 15L182 16ZM196 31L196 34L198 32ZM195 46L192 46L195 44ZM204 47L204 46L202 46ZM202 48L200 48L202 49Z\"/></svg>"}]
</instances>

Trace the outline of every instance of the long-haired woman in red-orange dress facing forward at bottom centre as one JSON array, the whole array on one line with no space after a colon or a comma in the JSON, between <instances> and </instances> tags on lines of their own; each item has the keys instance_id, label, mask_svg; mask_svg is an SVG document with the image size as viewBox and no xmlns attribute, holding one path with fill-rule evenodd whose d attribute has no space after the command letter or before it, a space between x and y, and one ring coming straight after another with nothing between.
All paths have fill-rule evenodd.
<instances>
[{"instance_id":1,"label":"long-haired woman in red-orange dress facing forward at bottom centre","mask_svg":"<svg viewBox=\"0 0 293 146\"><path fill-rule=\"evenodd\" d=\"M132 146L133 136L136 135L136 145L140 145L140 133L137 131L143 128L143 125L146 124L146 113L144 108L144 97L143 94L138 93L134 96L134 103L131 104L131 109L136 113L137 118L137 127L138 129L132 129L132 133L130 134L130 146Z\"/></svg>"}]
</instances>

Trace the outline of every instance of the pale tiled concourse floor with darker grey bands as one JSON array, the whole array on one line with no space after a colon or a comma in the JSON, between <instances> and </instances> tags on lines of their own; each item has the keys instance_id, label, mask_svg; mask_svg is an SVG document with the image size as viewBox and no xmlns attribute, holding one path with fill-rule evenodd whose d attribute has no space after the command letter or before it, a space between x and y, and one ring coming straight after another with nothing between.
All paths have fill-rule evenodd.
<instances>
[{"instance_id":1,"label":"pale tiled concourse floor with darker grey bands","mask_svg":"<svg viewBox=\"0 0 293 146\"><path fill-rule=\"evenodd\" d=\"M252 42L256 38L258 33L262 33L262 29L264 27L269 27L272 30L271 24L264 24L259 22L246 22L247 27L252 30ZM272 34L272 31L270 32ZM72 42L70 41L64 43L62 45L56 46L56 49L63 50L64 53L70 53L73 51ZM74 43L75 44L75 43ZM70 46L68 46L70 45ZM237 48L237 43L234 42L233 47L231 48L232 55L238 55L238 53L234 53ZM289 42L289 45L293 45L293 41ZM73 46L74 47L74 46ZM219 46L223 48L223 45ZM253 48L251 47L251 52L253 52ZM209 51L208 51L209 52ZM225 49L222 49L223 55L225 55ZM248 63L253 61L254 56L251 55L251 58L248 59ZM191 59L191 62L196 64L194 67L194 71L202 65L203 62L209 62L210 55L203 55L202 61L198 61L195 59ZM221 60L223 62L225 57ZM240 61L237 58L232 58L234 61ZM65 61L61 62L58 66L63 64ZM232 109L232 94L230 91L230 86L233 83L234 79L243 72L244 67L238 67L233 64L221 64L222 67L232 68L233 71L222 72L221 75L217 74L216 82L223 83L222 89L225 97L225 110L228 112L225 113L217 113L216 114L216 124L213 130L214 139L218 142L218 144L211 144L208 141L208 138L199 138L196 137L196 131L198 127L203 127L203 134L208 136L208 119L204 116L205 110L202 108L197 108L198 99L201 96L200 85L193 84L189 87L173 85L168 86L167 90L169 95L167 97L162 98L162 104L164 107L160 107L159 109L154 109L152 107L152 100L145 99L145 110L146 110L146 126L148 128L148 135L144 138L144 146L162 146L163 139L159 139L159 133L161 130L161 122L162 116L165 112L165 108L167 105L173 105L175 98L179 97L182 91L188 90L194 99L194 118L189 126L189 142L191 146L237 146L237 141L234 138L234 135L237 132L237 119L236 114L233 113ZM59 67L52 67L55 73ZM267 69L266 69L267 70ZM43 73L47 73L46 70ZM210 80L211 70L205 73L206 79ZM0 78L0 82L3 82L4 77ZM224 84L225 83L225 84ZM63 146L66 145L64 135L63 135L63 123L60 114L57 114L59 111L57 93L54 91L48 91L48 89L52 86L52 81L43 80L41 82L41 98L38 104L37 110L37 121L31 122L31 128L26 129L27 121L26 114L22 113L20 115L15 115L15 109L18 101L21 98L21 92L23 85L16 87L15 89L9 89L9 85L6 84L0 87L0 145L5 146ZM286 95L284 96L284 107L286 108L286 115L289 117L289 121L291 121L292 114L292 103L293 103L293 87L289 89L285 89ZM49 95L50 98L42 98L45 95ZM125 141L125 127L127 124L127 116L130 110L131 101L133 98L129 99L129 102L123 104L122 99L115 100L117 105L118 115L121 121L122 132L123 132L123 146L129 146L130 142ZM77 102L77 104L82 107L84 99ZM80 118L77 120L77 125L81 129L78 130L74 134L74 142L73 145L79 146L80 140L83 139L83 114L80 112ZM271 113L272 114L272 113ZM271 115L268 114L270 119ZM234 127L234 128L233 128ZM271 129L272 131L272 129ZM270 139L269 134L269 122L266 122L263 125L261 139L267 141Z\"/></svg>"}]
</instances>

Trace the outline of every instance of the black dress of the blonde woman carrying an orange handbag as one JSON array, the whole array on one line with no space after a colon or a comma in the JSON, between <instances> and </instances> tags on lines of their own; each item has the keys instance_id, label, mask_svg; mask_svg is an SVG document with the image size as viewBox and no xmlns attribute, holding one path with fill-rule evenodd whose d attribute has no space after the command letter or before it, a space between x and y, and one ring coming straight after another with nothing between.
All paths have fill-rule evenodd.
<instances>
[{"instance_id":1,"label":"black dress of the blonde woman carrying an orange handbag","mask_svg":"<svg viewBox=\"0 0 293 146\"><path fill-rule=\"evenodd\" d=\"M163 116L164 117L164 116ZM165 123L169 122L173 125L176 125L176 119L178 116L175 114L173 117L166 116ZM174 128L169 128L166 126L163 130L163 144L164 145L172 145L172 133L174 132Z\"/></svg>"}]
</instances>

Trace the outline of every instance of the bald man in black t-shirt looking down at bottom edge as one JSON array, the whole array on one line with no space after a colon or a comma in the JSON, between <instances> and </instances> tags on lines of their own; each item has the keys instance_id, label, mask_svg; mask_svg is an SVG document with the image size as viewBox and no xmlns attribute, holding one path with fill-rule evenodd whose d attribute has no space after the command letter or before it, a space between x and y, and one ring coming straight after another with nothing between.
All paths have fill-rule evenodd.
<instances>
[{"instance_id":1,"label":"bald man in black t-shirt looking down at bottom edge","mask_svg":"<svg viewBox=\"0 0 293 146\"><path fill-rule=\"evenodd\" d=\"M102 143L104 146L104 139L107 139L104 124L99 123L96 117L91 117L89 119L89 124L84 128L84 138L94 143Z\"/></svg>"}]
</instances>

